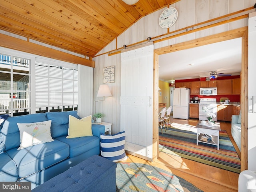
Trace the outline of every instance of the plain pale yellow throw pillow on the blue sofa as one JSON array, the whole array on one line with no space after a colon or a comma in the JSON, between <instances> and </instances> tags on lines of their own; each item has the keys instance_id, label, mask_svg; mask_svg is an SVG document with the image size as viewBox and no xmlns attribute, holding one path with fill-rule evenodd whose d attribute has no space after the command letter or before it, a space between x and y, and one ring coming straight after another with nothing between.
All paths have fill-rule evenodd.
<instances>
[{"instance_id":1,"label":"plain pale yellow throw pillow on the blue sofa","mask_svg":"<svg viewBox=\"0 0 256 192\"><path fill-rule=\"evenodd\" d=\"M77 119L72 115L68 116L68 136L66 138L76 138L92 136L92 116Z\"/></svg>"}]
</instances>

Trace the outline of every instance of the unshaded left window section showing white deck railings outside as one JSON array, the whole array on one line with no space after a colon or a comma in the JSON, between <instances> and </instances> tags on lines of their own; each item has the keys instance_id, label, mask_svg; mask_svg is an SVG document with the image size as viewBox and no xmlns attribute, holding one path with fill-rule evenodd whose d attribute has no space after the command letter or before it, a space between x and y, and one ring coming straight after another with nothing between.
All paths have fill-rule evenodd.
<instances>
[{"instance_id":1,"label":"unshaded left window section showing white deck railings outside","mask_svg":"<svg viewBox=\"0 0 256 192\"><path fill-rule=\"evenodd\" d=\"M0 113L30 112L30 59L0 54Z\"/></svg>"}]
</instances>

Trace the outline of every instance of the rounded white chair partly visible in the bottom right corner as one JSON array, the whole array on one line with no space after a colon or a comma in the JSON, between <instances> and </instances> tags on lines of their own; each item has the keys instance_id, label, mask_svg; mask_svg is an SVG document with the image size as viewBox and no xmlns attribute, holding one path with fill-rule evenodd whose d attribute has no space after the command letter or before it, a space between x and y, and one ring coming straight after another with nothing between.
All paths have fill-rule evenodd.
<instances>
[{"instance_id":1,"label":"rounded white chair partly visible in the bottom right corner","mask_svg":"<svg viewBox=\"0 0 256 192\"><path fill-rule=\"evenodd\" d=\"M238 192L256 192L256 172L244 170L238 177Z\"/></svg>"}]
</instances>

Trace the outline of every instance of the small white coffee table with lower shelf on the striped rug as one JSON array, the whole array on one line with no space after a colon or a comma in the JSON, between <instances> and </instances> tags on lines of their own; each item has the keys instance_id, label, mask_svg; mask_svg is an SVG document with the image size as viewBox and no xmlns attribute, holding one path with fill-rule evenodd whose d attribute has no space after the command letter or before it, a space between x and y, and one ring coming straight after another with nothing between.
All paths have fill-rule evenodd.
<instances>
[{"instance_id":1,"label":"small white coffee table with lower shelf on the striped rug","mask_svg":"<svg viewBox=\"0 0 256 192\"><path fill-rule=\"evenodd\" d=\"M220 146L220 123L215 123L214 126L208 124L202 125L197 124L197 134L196 134L196 145L198 142L208 143L211 145L216 145L217 150Z\"/></svg>"}]
</instances>

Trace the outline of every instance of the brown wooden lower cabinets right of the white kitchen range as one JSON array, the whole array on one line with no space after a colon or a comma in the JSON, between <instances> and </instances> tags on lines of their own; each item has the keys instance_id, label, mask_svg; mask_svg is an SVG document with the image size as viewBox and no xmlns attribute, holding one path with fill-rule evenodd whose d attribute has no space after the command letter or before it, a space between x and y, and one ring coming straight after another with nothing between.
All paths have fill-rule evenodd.
<instances>
[{"instance_id":1,"label":"brown wooden lower cabinets right of the white kitchen range","mask_svg":"<svg viewBox=\"0 0 256 192\"><path fill-rule=\"evenodd\" d=\"M240 106L233 105L218 105L217 106L217 120L231 121L232 115L239 115Z\"/></svg>"}]
</instances>

